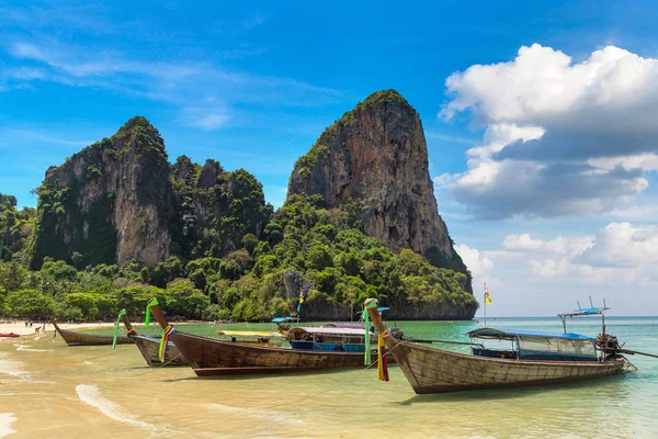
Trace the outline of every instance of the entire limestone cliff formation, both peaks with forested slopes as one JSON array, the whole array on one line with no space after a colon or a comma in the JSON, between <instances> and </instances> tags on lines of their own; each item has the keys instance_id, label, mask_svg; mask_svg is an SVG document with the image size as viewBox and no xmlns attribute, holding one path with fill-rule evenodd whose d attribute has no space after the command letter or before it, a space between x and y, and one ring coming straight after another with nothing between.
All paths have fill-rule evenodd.
<instances>
[{"instance_id":1,"label":"entire limestone cliff formation, both peaks with forested slopes","mask_svg":"<svg viewBox=\"0 0 658 439\"><path fill-rule=\"evenodd\" d=\"M390 306L390 318L475 314L470 273L438 213L420 119L397 92L368 97L327 128L276 212L262 189L214 159L170 164L158 131L133 117L47 170L36 215L3 203L0 257L34 270L57 260L44 275L75 266L69 283L93 282L67 288L93 292L87 299L118 304L124 293L138 301L171 289L194 299L177 311L194 318L290 315L302 292L306 320L352 319L364 296Z\"/></svg>"}]
</instances>

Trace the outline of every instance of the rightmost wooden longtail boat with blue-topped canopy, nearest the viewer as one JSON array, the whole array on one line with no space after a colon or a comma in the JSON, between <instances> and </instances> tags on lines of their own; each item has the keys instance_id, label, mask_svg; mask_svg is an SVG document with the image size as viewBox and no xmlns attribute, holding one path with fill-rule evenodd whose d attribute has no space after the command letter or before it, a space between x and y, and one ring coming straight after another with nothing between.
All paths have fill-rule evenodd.
<instances>
[{"instance_id":1,"label":"rightmost wooden longtail boat with blue-topped canopy, nearest the viewer","mask_svg":"<svg viewBox=\"0 0 658 439\"><path fill-rule=\"evenodd\" d=\"M604 349L600 342L597 344L597 339L566 333L566 323L565 334L501 330L488 327L468 333L476 339L511 341L510 350L487 349L484 345L474 344L472 354L466 354L420 346L390 337L374 308L375 304L374 299L365 301L371 319L376 329L383 334L387 349L418 394L553 384L617 375L637 370L620 354L614 346ZM564 322L566 317L576 315L602 315L604 309L608 308L578 309L560 317ZM605 335L605 326L603 326L603 335ZM616 345L614 337L605 336L600 338L609 345Z\"/></svg>"}]
</instances>

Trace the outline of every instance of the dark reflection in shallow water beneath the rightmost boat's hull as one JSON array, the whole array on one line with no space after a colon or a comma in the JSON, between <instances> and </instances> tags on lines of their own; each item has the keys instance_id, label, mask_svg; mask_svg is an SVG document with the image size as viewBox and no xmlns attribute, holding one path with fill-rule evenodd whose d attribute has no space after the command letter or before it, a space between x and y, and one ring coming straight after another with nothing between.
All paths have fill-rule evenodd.
<instances>
[{"instance_id":1,"label":"dark reflection in shallow water beneath the rightmost boat's hull","mask_svg":"<svg viewBox=\"0 0 658 439\"><path fill-rule=\"evenodd\" d=\"M392 403L398 406L410 406L413 404L426 404L435 402L469 402L481 399L517 399L535 396L545 393L569 391L588 391L591 398L600 397L616 397L624 398L628 391L623 380L628 380L628 376L613 375L600 376L588 381L576 381L560 384L544 384L533 386L519 386L507 389L484 389L475 391L463 391L453 393L428 393L424 395L413 395L408 399Z\"/></svg>"}]
</instances>

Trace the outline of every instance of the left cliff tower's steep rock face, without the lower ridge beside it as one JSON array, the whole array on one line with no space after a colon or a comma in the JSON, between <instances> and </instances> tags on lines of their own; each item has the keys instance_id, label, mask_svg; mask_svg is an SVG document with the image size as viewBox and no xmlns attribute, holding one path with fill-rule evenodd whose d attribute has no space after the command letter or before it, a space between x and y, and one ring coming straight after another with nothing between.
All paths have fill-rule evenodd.
<instances>
[{"instance_id":1,"label":"left cliff tower's steep rock face, without the lower ridge beside it","mask_svg":"<svg viewBox=\"0 0 658 439\"><path fill-rule=\"evenodd\" d=\"M86 264L136 258L152 267L169 256L169 164L144 117L50 167L38 194L34 268L45 256L70 260L73 252Z\"/></svg>"}]
</instances>

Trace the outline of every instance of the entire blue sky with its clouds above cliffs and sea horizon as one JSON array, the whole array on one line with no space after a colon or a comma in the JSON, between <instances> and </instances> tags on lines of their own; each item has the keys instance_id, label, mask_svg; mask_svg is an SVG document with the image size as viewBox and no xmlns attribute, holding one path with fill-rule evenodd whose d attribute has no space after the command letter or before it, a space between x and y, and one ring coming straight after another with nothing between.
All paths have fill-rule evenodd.
<instances>
[{"instance_id":1,"label":"entire blue sky with its clouds above cliffs and sea horizon","mask_svg":"<svg viewBox=\"0 0 658 439\"><path fill-rule=\"evenodd\" d=\"M170 160L281 205L322 130L395 88L491 315L658 313L650 2L188 3L0 3L0 192L35 205L48 166L144 115Z\"/></svg>"}]
</instances>

